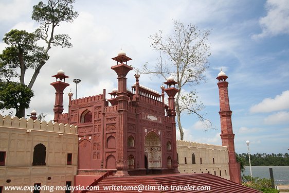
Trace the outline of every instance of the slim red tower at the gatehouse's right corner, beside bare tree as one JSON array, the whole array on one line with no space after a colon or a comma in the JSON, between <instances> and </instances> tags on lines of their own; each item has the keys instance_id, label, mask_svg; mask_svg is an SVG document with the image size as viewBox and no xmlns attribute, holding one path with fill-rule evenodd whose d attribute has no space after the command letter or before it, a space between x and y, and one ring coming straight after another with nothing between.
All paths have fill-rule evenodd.
<instances>
[{"instance_id":1,"label":"slim red tower at the gatehouse's right corner, beside bare tree","mask_svg":"<svg viewBox=\"0 0 289 193\"><path fill-rule=\"evenodd\" d=\"M167 85L167 89L164 89L164 86L161 86L161 90L162 92L166 92L167 95L169 96L169 111L168 111L168 116L172 118L172 124L173 124L173 129L172 131L175 131L175 116L176 116L176 111L175 111L175 95L177 94L177 92L179 91L178 89L175 88L175 84L177 84L176 81L174 81L173 77L170 77L167 79L167 82L164 82L164 84ZM162 94L162 96L164 96ZM162 101L164 102L164 97L162 97ZM172 141L172 146L174 147L173 149L176 150L176 134L175 132L173 133L173 141ZM173 151L173 160L172 160L172 165L174 168L174 172L175 173L179 173L177 167L177 156L176 156L176 151Z\"/></svg>"}]
</instances>

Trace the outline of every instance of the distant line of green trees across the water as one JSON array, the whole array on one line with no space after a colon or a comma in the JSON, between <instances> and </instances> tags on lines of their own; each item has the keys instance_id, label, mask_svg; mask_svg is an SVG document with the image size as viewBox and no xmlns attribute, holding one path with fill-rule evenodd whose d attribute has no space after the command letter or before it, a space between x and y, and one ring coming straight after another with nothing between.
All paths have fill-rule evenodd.
<instances>
[{"instance_id":1,"label":"distant line of green trees across the water","mask_svg":"<svg viewBox=\"0 0 289 193\"><path fill-rule=\"evenodd\" d=\"M248 153L241 153L237 155L239 159L244 162L245 166L249 165ZM250 154L252 166L289 166L289 154L288 153L255 153Z\"/></svg>"}]
</instances>

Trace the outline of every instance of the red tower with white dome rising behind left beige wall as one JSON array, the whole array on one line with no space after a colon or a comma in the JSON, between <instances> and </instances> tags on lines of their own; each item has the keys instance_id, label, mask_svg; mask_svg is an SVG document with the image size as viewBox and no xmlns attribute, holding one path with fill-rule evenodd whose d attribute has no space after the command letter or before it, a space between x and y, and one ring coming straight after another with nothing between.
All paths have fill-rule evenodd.
<instances>
[{"instance_id":1,"label":"red tower with white dome rising behind left beige wall","mask_svg":"<svg viewBox=\"0 0 289 193\"><path fill-rule=\"evenodd\" d=\"M53 120L55 122L58 122L59 116L63 112L63 91L67 86L69 86L69 84L65 82L65 78L69 78L69 76L66 76L64 71L62 71L62 69L60 69L57 72L57 75L54 75L52 77L56 78L56 82L50 83L50 85L52 85L56 90L55 106L53 108L53 112L54 112L54 119Z\"/></svg>"}]
</instances>

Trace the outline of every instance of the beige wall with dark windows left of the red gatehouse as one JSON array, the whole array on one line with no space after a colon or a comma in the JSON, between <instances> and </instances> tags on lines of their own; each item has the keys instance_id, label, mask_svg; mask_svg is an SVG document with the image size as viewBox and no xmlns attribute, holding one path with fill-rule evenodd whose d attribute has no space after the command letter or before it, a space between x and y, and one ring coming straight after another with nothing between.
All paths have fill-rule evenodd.
<instances>
[{"instance_id":1,"label":"beige wall with dark windows left of the red gatehouse","mask_svg":"<svg viewBox=\"0 0 289 193\"><path fill-rule=\"evenodd\" d=\"M34 147L40 143L46 147L46 165L32 166ZM73 125L0 115L0 151L6 152L5 166L0 166L0 186L74 184L78 135ZM71 165L67 165L67 153L73 155Z\"/></svg>"}]
</instances>

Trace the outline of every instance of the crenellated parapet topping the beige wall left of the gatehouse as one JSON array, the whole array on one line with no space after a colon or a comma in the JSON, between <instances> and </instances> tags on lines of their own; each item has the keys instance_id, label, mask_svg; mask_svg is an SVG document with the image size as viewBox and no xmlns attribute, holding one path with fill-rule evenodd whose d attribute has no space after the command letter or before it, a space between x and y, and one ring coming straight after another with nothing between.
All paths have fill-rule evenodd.
<instances>
[{"instance_id":1,"label":"crenellated parapet topping the beige wall left of the gatehouse","mask_svg":"<svg viewBox=\"0 0 289 193\"><path fill-rule=\"evenodd\" d=\"M0 127L11 127L11 128L21 128L27 130L41 130L41 131L51 131L59 133L71 133L77 134L77 126L68 124L59 124L58 122L46 122L45 120L40 121L38 119L33 120L31 118L18 118L0 115Z\"/></svg>"}]
</instances>

